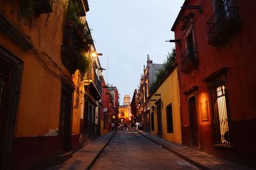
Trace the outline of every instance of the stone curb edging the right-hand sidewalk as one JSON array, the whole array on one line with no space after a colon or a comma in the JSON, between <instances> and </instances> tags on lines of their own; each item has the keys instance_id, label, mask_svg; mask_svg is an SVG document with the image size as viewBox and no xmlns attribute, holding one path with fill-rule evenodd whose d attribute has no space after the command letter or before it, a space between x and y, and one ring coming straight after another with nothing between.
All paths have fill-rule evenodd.
<instances>
[{"instance_id":1,"label":"stone curb edging the right-hand sidewalk","mask_svg":"<svg viewBox=\"0 0 256 170\"><path fill-rule=\"evenodd\" d=\"M139 131L137 131L137 132L138 132L139 134L141 134L141 136L143 136L143 137L149 139L150 141L156 143L157 145L161 145L162 148L164 148L164 149L166 149L166 150L168 150L168 151L174 153L174 154L177 155L178 157L180 157L180 158L182 158L182 159L188 161L189 163L193 164L194 166L196 166L196 167L198 167L198 168L200 168L200 169L210 170L208 167L205 167L205 166L203 166L202 164L198 164L198 162L195 162L195 160L189 159L188 157L186 157L186 156L184 156L184 155L182 155L182 154L176 152L175 150L172 150L171 148L168 148L167 146L164 146L163 144L161 144L161 143L155 141L154 139L148 138L147 136L145 136L144 134L142 134L142 133L139 132Z\"/></svg>"}]
</instances>

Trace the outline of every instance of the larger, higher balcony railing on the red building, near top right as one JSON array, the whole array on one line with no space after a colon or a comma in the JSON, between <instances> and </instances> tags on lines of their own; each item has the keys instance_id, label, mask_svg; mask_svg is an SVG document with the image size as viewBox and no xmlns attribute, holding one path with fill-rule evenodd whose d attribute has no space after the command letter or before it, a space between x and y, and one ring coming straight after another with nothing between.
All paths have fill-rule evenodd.
<instances>
[{"instance_id":1,"label":"larger, higher balcony railing on the red building, near top right","mask_svg":"<svg viewBox=\"0 0 256 170\"><path fill-rule=\"evenodd\" d=\"M232 35L241 26L241 18L236 6L230 6L228 0L214 12L207 22L207 33L210 45L217 45L220 41Z\"/></svg>"}]
</instances>

